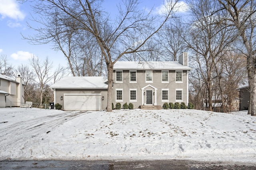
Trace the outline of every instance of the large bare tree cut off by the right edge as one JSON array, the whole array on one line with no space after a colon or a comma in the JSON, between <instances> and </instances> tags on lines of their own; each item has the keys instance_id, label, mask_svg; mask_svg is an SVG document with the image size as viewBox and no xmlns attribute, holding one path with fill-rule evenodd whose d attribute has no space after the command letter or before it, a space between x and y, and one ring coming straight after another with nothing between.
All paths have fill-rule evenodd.
<instances>
[{"instance_id":1,"label":"large bare tree cut off by the right edge","mask_svg":"<svg viewBox=\"0 0 256 170\"><path fill-rule=\"evenodd\" d=\"M248 113L256 115L256 1L255 0L218 0L221 5L220 10L227 17L222 17L226 26L236 29L238 35L246 48L247 71L250 89L250 105Z\"/></svg>"}]
</instances>

